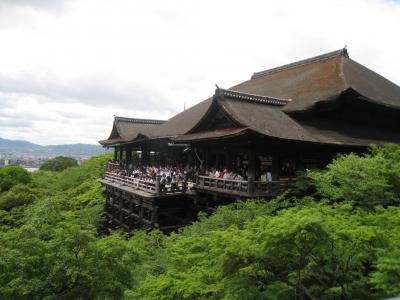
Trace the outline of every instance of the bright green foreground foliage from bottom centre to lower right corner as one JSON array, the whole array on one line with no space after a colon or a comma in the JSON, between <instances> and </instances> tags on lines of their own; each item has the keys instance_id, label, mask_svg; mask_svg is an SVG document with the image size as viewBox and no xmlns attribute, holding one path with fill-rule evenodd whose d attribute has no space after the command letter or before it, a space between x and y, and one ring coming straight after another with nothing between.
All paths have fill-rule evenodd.
<instances>
[{"instance_id":1,"label":"bright green foreground foliage from bottom centre to lower right corner","mask_svg":"<svg viewBox=\"0 0 400 300\"><path fill-rule=\"evenodd\" d=\"M315 204L258 216L242 229L232 225L199 234L188 228L164 240L165 271L149 274L131 295L140 299L160 295L164 296L160 299L380 298L387 291L372 293L376 285L367 274L376 279L385 275L374 264L382 249L400 239L396 227L390 235L386 229L400 225L399 212L397 207L369 213L354 211L348 204L334 208ZM378 227L377 218L385 223Z\"/></svg>"}]
</instances>

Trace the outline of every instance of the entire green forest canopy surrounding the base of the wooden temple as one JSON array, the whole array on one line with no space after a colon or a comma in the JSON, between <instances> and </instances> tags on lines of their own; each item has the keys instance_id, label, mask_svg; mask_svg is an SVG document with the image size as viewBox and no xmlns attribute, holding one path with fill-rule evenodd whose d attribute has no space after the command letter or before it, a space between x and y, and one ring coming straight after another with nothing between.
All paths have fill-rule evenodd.
<instances>
[{"instance_id":1,"label":"entire green forest canopy surrounding the base of the wooden temple","mask_svg":"<svg viewBox=\"0 0 400 300\"><path fill-rule=\"evenodd\" d=\"M273 200L221 206L170 235L104 234L108 159L27 179L0 170L0 299L400 295L400 146L338 156Z\"/></svg>"}]
</instances>

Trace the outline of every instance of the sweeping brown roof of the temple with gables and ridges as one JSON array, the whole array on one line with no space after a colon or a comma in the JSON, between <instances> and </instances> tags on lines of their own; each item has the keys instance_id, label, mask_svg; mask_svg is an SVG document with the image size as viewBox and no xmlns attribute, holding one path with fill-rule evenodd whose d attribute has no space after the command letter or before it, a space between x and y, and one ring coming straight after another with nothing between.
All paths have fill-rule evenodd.
<instances>
[{"instance_id":1,"label":"sweeping brown roof of the temple with gables and ridges","mask_svg":"<svg viewBox=\"0 0 400 300\"><path fill-rule=\"evenodd\" d=\"M332 134L332 131L319 130L313 125L303 126L294 119L294 113L313 110L321 103L334 102L347 91L356 92L362 96L363 101L400 110L400 87L351 60L347 50L340 49L254 73L250 80L230 89L217 88L213 97L180 112L166 122L116 117L113 132L117 132L124 140L132 140L138 134L150 138L195 134L198 124L205 120L212 106L217 103L243 128L266 136L357 144L358 137L351 140L350 136L339 132L341 128ZM233 132L238 133L235 129L229 134ZM211 135L221 137L223 131ZM110 135L109 139L118 136ZM201 137L206 136L205 133L201 134Z\"/></svg>"}]
</instances>

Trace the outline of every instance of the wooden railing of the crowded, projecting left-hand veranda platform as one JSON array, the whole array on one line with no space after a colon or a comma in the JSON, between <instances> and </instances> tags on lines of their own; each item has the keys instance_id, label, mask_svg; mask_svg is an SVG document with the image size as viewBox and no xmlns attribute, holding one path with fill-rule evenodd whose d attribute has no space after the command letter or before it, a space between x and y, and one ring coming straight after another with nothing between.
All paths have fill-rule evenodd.
<instances>
[{"instance_id":1,"label":"wooden railing of the crowded, projecting left-hand veranda platform","mask_svg":"<svg viewBox=\"0 0 400 300\"><path fill-rule=\"evenodd\" d=\"M162 185L160 183L159 176L156 177L155 181L146 181L111 172L104 172L103 179L119 183L123 186L130 187L134 190L141 190L155 195L165 195L171 193L185 192L187 190L187 182L182 181L182 182Z\"/></svg>"}]
</instances>

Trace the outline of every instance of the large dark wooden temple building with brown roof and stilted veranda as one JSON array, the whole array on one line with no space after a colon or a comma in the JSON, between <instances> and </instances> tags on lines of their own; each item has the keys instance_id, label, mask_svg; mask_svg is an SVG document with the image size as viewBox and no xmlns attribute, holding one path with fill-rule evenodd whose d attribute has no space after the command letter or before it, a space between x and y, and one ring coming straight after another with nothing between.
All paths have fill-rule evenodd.
<instances>
[{"instance_id":1,"label":"large dark wooden temple building with brown roof and stilted veranda","mask_svg":"<svg viewBox=\"0 0 400 300\"><path fill-rule=\"evenodd\" d=\"M171 231L201 210L274 197L298 171L321 168L338 153L398 143L399 129L400 87L346 49L254 73L167 121L115 117L100 141L114 148L109 167L179 166L190 176L166 184L158 175L148 181L107 169L108 221L111 228Z\"/></svg>"}]
</instances>

